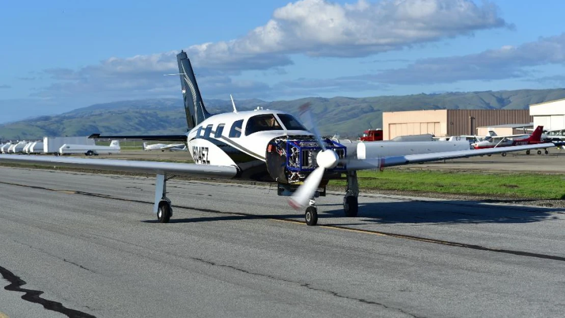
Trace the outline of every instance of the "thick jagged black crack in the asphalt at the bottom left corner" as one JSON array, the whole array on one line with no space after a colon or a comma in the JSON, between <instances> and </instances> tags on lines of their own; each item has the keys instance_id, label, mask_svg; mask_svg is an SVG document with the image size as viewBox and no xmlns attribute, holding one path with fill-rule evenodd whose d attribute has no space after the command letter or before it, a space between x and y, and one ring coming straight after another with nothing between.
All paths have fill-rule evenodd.
<instances>
[{"instance_id":1,"label":"thick jagged black crack in the asphalt at the bottom left corner","mask_svg":"<svg viewBox=\"0 0 565 318\"><path fill-rule=\"evenodd\" d=\"M55 312L62 313L69 318L96 318L96 316L90 315L86 312L73 310L63 306L62 303L55 302L53 300L48 300L41 298L41 294L44 292L41 290L25 289L21 286L27 284L20 277L16 276L14 273L8 271L8 269L0 266L0 274L2 277L10 282L10 285L4 287L8 291L18 291L19 293L24 293L21 295L21 299L24 299L31 303L41 304L46 310L51 310Z\"/></svg>"}]
</instances>

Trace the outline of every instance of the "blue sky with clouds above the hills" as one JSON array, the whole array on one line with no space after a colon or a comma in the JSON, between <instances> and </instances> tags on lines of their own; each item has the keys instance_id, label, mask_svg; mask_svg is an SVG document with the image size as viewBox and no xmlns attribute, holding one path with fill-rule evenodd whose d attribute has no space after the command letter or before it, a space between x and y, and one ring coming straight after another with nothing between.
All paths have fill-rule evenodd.
<instances>
[{"instance_id":1,"label":"blue sky with clouds above the hills","mask_svg":"<svg viewBox=\"0 0 565 318\"><path fill-rule=\"evenodd\" d=\"M0 5L0 123L94 103L565 86L563 1L27 1Z\"/></svg>"}]
</instances>

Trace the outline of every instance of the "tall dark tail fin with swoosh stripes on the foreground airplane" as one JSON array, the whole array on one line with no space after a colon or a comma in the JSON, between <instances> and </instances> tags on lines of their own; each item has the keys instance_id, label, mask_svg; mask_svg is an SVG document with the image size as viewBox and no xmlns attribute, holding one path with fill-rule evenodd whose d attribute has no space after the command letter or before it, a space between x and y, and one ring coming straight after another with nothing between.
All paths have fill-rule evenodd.
<instances>
[{"instance_id":1,"label":"tall dark tail fin with swoosh stripes on the foreground airplane","mask_svg":"<svg viewBox=\"0 0 565 318\"><path fill-rule=\"evenodd\" d=\"M182 87L182 99L184 99L184 109L186 111L186 124L188 129L194 128L202 123L206 118L210 117L210 113L206 111L192 65L184 51L177 54L177 62L179 62L180 84Z\"/></svg>"}]
</instances>

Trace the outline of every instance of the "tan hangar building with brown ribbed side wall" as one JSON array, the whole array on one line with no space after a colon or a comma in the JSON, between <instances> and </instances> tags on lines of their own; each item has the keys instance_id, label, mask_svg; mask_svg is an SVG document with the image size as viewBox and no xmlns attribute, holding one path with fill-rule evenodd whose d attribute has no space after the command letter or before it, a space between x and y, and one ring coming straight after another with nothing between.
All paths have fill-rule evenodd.
<instances>
[{"instance_id":1,"label":"tan hangar building with brown ribbed side wall","mask_svg":"<svg viewBox=\"0 0 565 318\"><path fill-rule=\"evenodd\" d=\"M383 138L390 140L397 136L427 133L436 137L475 135L479 127L531 123L533 119L529 113L528 110L383 112Z\"/></svg>"}]
</instances>

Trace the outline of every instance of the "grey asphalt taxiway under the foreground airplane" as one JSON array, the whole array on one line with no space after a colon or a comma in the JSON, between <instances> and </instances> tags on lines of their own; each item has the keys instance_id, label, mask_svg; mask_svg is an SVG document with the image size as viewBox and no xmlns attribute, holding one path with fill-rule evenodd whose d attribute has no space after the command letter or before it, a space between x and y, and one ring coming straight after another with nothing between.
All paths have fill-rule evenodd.
<instances>
[{"instance_id":1,"label":"grey asphalt taxiway under the foreground airplane","mask_svg":"<svg viewBox=\"0 0 565 318\"><path fill-rule=\"evenodd\" d=\"M174 215L158 224L153 183L0 167L0 272L12 280L0 313L565 314L563 209L362 195L348 218L342 194L330 193L311 227L274 187L173 179ZM31 290L29 301L18 288Z\"/></svg>"}]
</instances>

